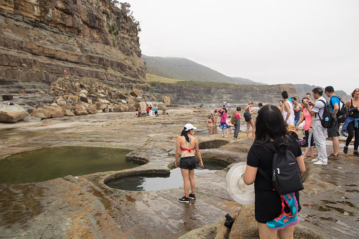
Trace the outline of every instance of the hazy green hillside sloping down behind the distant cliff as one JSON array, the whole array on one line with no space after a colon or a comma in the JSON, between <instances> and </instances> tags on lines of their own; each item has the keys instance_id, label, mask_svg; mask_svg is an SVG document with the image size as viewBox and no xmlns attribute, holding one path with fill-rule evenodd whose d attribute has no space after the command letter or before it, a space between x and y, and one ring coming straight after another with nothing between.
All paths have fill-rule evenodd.
<instances>
[{"instance_id":1,"label":"hazy green hillside sloping down behind the distant cliff","mask_svg":"<svg viewBox=\"0 0 359 239\"><path fill-rule=\"evenodd\" d=\"M185 58L149 57L142 55L142 59L146 62L147 74L158 75L165 78L188 81L265 85L245 78L223 75L209 67Z\"/></svg>"}]
</instances>

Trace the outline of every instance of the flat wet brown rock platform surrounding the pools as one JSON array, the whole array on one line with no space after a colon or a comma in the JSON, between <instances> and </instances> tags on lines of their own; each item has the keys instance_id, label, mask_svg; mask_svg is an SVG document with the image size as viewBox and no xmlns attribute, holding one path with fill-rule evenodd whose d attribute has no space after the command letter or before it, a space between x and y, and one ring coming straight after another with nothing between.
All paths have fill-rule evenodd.
<instances>
[{"instance_id":1,"label":"flat wet brown rock platform surrounding the pools","mask_svg":"<svg viewBox=\"0 0 359 239\"><path fill-rule=\"evenodd\" d=\"M133 112L123 112L0 123L0 165L8 155L59 146L131 149L128 160L146 163L121 171L0 184L0 238L259 238L254 206L234 202L225 186L228 169L246 161L253 141L245 139L245 132L240 139L206 135L208 110L178 107L167 112L159 117L134 118ZM204 164L206 160L230 163L215 173L195 175L196 201L179 203L182 187L135 192L105 184L128 175L169 174L176 137L188 122L198 127L195 136ZM331 153L331 144L327 145ZM358 158L341 152L340 160L326 166L314 165L310 159L305 163L301 222L295 226L294 238L358 238ZM235 219L231 229L224 226L227 213Z\"/></svg>"}]
</instances>

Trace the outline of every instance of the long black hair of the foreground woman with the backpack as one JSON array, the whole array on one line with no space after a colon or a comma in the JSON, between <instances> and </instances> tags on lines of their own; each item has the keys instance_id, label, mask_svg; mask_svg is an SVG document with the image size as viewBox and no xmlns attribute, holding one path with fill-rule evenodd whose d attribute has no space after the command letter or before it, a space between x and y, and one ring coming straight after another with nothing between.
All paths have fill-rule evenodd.
<instances>
[{"instance_id":1,"label":"long black hair of the foreground woman with the backpack","mask_svg":"<svg viewBox=\"0 0 359 239\"><path fill-rule=\"evenodd\" d=\"M264 105L258 113L256 120L256 139L254 144L262 146L274 139L276 148L279 144L288 145L287 124L284 122L282 113L275 105ZM283 153L285 147L278 148Z\"/></svg>"}]
</instances>

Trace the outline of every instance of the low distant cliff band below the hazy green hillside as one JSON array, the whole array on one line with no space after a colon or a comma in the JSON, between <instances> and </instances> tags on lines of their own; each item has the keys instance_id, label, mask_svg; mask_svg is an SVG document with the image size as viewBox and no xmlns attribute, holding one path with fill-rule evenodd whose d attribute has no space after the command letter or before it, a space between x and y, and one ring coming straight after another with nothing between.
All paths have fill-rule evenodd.
<instances>
[{"instance_id":1,"label":"low distant cliff band below the hazy green hillside","mask_svg":"<svg viewBox=\"0 0 359 239\"><path fill-rule=\"evenodd\" d=\"M194 82L178 82L165 84L151 82L157 98L169 96L171 102L177 105L198 105L200 103L216 104L220 107L222 101L232 105L247 105L253 101L257 106L263 104L278 104L281 100L281 92L287 90L290 97L297 97L294 85L234 85L234 84L205 84ZM298 98L298 97L297 97Z\"/></svg>"}]
</instances>

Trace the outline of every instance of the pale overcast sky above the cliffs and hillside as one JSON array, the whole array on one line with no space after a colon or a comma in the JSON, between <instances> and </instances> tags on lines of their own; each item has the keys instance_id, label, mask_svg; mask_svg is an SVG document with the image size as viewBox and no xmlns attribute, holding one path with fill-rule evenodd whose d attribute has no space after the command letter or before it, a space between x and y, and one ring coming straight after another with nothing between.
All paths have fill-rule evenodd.
<instances>
[{"instance_id":1,"label":"pale overcast sky above the cliffs and hillside","mask_svg":"<svg viewBox=\"0 0 359 239\"><path fill-rule=\"evenodd\" d=\"M266 84L359 87L359 0L128 0L142 53Z\"/></svg>"}]
</instances>

